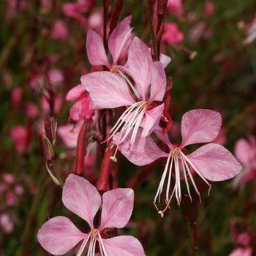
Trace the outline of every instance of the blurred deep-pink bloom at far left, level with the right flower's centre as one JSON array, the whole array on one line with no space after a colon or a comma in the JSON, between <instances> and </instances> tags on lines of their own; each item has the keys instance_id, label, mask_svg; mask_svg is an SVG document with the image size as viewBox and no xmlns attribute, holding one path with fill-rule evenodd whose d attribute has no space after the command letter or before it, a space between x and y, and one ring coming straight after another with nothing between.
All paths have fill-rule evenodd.
<instances>
[{"instance_id":1,"label":"blurred deep-pink bloom at far left, level with the right flower's centre","mask_svg":"<svg viewBox=\"0 0 256 256\"><path fill-rule=\"evenodd\" d=\"M23 153L27 147L27 137L28 132L26 127L18 125L16 127L12 127L10 129L10 136L12 138L12 142L15 145L15 150L19 153Z\"/></svg>"}]
</instances>

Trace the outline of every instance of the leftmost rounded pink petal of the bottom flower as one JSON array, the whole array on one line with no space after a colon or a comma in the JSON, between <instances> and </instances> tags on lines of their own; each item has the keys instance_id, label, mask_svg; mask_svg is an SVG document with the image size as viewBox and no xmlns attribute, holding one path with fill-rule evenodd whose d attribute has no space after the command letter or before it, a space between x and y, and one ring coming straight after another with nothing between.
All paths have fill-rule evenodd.
<instances>
[{"instance_id":1,"label":"leftmost rounded pink petal of the bottom flower","mask_svg":"<svg viewBox=\"0 0 256 256\"><path fill-rule=\"evenodd\" d=\"M66 254L86 237L69 219L62 216L49 219L37 233L39 244L52 255Z\"/></svg>"}]
</instances>

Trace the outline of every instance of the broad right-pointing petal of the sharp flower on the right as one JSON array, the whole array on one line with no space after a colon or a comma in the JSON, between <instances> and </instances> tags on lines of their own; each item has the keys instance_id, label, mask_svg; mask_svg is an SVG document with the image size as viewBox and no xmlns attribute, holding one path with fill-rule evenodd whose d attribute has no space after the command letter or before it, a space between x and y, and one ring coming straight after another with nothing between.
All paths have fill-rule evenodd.
<instances>
[{"instance_id":1,"label":"broad right-pointing petal of the sharp flower on the right","mask_svg":"<svg viewBox=\"0 0 256 256\"><path fill-rule=\"evenodd\" d=\"M209 181L225 181L241 171L241 165L226 148L210 143L187 156Z\"/></svg>"}]
</instances>

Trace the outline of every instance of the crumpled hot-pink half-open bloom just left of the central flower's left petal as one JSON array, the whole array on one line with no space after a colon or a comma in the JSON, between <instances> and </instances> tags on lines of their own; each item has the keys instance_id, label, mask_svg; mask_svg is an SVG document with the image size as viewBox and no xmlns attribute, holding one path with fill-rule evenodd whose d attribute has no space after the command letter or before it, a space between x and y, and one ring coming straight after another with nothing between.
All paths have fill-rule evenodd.
<instances>
[{"instance_id":1,"label":"crumpled hot-pink half-open bloom just left of the central flower's left petal","mask_svg":"<svg viewBox=\"0 0 256 256\"><path fill-rule=\"evenodd\" d=\"M73 121L91 118L94 115L94 110L91 109L91 99L83 85L79 84L68 91L66 100L69 102L76 101L69 112Z\"/></svg>"}]
</instances>

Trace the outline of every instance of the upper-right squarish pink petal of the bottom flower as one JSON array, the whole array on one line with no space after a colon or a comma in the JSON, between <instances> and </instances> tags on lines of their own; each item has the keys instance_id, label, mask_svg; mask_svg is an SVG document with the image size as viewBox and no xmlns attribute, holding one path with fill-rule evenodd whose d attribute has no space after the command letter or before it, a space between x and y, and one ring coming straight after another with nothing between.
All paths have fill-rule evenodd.
<instances>
[{"instance_id":1,"label":"upper-right squarish pink petal of the bottom flower","mask_svg":"<svg viewBox=\"0 0 256 256\"><path fill-rule=\"evenodd\" d=\"M102 195L102 219L99 227L122 228L132 215L134 192L132 189L113 189Z\"/></svg>"}]
</instances>

